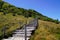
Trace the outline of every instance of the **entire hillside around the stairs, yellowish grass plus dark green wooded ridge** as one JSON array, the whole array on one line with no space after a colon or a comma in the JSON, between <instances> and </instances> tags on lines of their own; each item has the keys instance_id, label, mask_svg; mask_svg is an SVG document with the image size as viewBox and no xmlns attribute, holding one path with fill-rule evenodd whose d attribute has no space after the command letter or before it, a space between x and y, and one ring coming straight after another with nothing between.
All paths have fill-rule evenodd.
<instances>
[{"instance_id":1,"label":"entire hillside around the stairs, yellowish grass plus dark green wooded ridge","mask_svg":"<svg viewBox=\"0 0 60 40\"><path fill-rule=\"evenodd\" d=\"M45 37L47 37L46 34L51 34L51 35L49 35L49 38L50 38L50 37L52 37L52 35L54 33L54 32L50 32L50 31L57 30L57 28L59 29L60 22L58 19L54 20L52 18L42 15L41 13L39 13L33 9L18 8L7 2L0 0L0 39L3 38L3 28L4 27L6 28L5 36L8 37L8 36L11 36L12 31L16 30L17 28L21 28L22 25L26 23L26 21L28 23L33 18L39 19L39 26L38 26L38 29L36 30L35 34L31 37L32 40L34 38L35 38L34 40L38 40L38 38L43 38L42 36L44 36L44 38L45 38ZM45 26L47 26L47 29L45 28ZM55 36L57 37L57 39L60 37L59 30L58 30L58 32L55 32L56 33ZM47 31L49 31L49 32L47 32ZM44 40L44 39L41 39L41 40Z\"/></svg>"}]
</instances>

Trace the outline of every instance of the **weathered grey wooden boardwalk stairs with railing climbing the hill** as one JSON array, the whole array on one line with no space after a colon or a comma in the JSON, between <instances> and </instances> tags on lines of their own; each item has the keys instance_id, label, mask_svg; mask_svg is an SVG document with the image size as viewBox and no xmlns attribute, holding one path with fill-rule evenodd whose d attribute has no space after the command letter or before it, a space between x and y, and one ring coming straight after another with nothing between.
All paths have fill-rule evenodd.
<instances>
[{"instance_id":1,"label":"weathered grey wooden boardwalk stairs with railing climbing the hill","mask_svg":"<svg viewBox=\"0 0 60 40\"><path fill-rule=\"evenodd\" d=\"M38 20L34 19L29 22L29 24L24 25L21 29L17 29L13 32L13 36L8 39L2 40L29 40L32 34L32 31L36 30L38 26Z\"/></svg>"}]
</instances>

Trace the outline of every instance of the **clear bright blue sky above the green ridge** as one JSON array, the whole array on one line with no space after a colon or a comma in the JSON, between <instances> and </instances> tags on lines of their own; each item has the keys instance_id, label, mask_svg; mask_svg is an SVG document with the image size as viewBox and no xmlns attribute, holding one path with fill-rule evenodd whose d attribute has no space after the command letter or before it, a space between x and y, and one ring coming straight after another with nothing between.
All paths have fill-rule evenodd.
<instances>
[{"instance_id":1,"label":"clear bright blue sky above the green ridge","mask_svg":"<svg viewBox=\"0 0 60 40\"><path fill-rule=\"evenodd\" d=\"M34 9L41 14L60 20L60 0L4 0L16 7Z\"/></svg>"}]
</instances>

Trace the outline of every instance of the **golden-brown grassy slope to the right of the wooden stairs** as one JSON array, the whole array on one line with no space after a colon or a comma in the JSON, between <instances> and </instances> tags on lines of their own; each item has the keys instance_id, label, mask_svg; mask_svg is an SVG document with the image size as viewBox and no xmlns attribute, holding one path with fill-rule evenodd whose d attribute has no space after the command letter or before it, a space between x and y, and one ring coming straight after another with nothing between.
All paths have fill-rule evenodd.
<instances>
[{"instance_id":1,"label":"golden-brown grassy slope to the right of the wooden stairs","mask_svg":"<svg viewBox=\"0 0 60 40\"><path fill-rule=\"evenodd\" d=\"M60 24L39 20L39 26L30 40L60 40Z\"/></svg>"}]
</instances>

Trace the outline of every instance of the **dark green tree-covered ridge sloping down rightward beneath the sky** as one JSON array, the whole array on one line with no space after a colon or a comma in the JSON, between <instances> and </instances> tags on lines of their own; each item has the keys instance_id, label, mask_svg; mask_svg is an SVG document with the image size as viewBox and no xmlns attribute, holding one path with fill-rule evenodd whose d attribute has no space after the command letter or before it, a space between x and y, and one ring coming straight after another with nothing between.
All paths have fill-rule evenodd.
<instances>
[{"instance_id":1,"label":"dark green tree-covered ridge sloping down rightward beneath the sky","mask_svg":"<svg viewBox=\"0 0 60 40\"><path fill-rule=\"evenodd\" d=\"M12 13L13 16L23 15L25 17L34 17L34 18L37 17L37 18L44 20L44 21L51 21L51 22L59 23L58 19L54 20L52 18L42 15L41 13L39 13L35 10L18 8L13 5L10 5L4 1L0 2L0 12L3 12L4 15L6 15L8 13Z\"/></svg>"}]
</instances>

